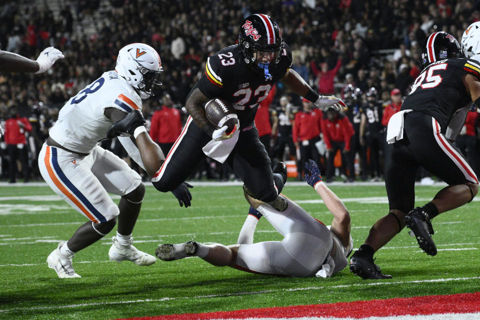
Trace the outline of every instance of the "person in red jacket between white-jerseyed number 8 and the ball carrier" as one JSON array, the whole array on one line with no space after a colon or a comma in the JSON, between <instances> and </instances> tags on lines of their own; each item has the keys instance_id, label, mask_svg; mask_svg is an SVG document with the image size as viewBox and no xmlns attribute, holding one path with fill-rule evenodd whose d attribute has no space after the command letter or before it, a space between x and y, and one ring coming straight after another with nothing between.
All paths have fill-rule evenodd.
<instances>
[{"instance_id":1,"label":"person in red jacket between white-jerseyed number 8 and the ball carrier","mask_svg":"<svg viewBox=\"0 0 480 320\"><path fill-rule=\"evenodd\" d=\"M162 105L153 112L150 124L150 137L158 143L163 154L168 154L176 138L181 132L180 111L173 107L173 101L168 93L163 94Z\"/></svg>"}]
</instances>

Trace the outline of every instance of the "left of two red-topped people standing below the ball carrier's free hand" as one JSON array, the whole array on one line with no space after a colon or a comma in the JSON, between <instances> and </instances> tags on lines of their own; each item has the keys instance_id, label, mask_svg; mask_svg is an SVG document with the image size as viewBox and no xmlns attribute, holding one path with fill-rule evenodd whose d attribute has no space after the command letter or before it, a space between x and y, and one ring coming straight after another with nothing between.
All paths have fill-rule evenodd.
<instances>
[{"instance_id":1,"label":"left of two red-topped people standing below the ball carrier's free hand","mask_svg":"<svg viewBox=\"0 0 480 320\"><path fill-rule=\"evenodd\" d=\"M313 104L305 98L302 99L301 103L303 108L295 114L292 138L295 148L300 150L300 167L303 168L305 161L308 161L308 159L313 159L320 165L320 156L315 143L320 140L323 112L312 108ZM302 176L301 171L298 172L298 176Z\"/></svg>"}]
</instances>

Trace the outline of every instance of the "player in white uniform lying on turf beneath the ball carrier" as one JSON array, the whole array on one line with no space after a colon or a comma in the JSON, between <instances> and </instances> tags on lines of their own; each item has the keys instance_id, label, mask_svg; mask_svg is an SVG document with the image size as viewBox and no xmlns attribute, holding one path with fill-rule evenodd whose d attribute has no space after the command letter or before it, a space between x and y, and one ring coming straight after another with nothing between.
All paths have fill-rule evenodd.
<instances>
[{"instance_id":1,"label":"player in white uniform lying on turf beneath the ball carrier","mask_svg":"<svg viewBox=\"0 0 480 320\"><path fill-rule=\"evenodd\" d=\"M284 236L283 240L252 243L257 218L248 215L238 244L206 245L195 241L162 244L155 250L156 256L166 261L199 256L216 266L281 276L329 277L340 271L347 265L346 257L353 247L350 215L341 200L323 184L316 163L307 161L305 169L308 184L333 214L330 228L283 195L280 196L286 199L288 207L278 211L245 192L250 205ZM253 224L248 221L250 218L255 221Z\"/></svg>"}]
</instances>

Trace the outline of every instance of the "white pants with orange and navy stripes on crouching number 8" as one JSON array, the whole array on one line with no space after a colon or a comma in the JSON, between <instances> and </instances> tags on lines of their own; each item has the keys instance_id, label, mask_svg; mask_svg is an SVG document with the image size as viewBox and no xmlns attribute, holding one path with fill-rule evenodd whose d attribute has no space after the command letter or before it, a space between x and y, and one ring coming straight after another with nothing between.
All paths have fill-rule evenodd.
<instances>
[{"instance_id":1,"label":"white pants with orange and navy stripes on crouching number 8","mask_svg":"<svg viewBox=\"0 0 480 320\"><path fill-rule=\"evenodd\" d=\"M141 183L140 175L125 161L98 145L81 156L43 143L38 167L52 190L93 222L118 215L108 192L122 196Z\"/></svg>"}]
</instances>

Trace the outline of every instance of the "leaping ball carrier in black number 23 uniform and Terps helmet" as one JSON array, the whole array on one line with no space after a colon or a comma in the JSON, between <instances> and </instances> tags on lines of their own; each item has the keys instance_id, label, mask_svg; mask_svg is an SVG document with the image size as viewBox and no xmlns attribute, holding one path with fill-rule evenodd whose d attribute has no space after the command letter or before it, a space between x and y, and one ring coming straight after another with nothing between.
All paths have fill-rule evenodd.
<instances>
[{"instance_id":1,"label":"leaping ball carrier in black number 23 uniform and Terps helmet","mask_svg":"<svg viewBox=\"0 0 480 320\"><path fill-rule=\"evenodd\" d=\"M286 169L282 174L272 174L270 159L253 122L258 102L267 96L275 82L282 81L317 107L341 109L344 106L334 96L318 95L290 69L290 48L271 17L252 14L243 20L239 29L238 44L208 57L203 76L187 97L186 108L190 116L152 177L159 191L166 192L180 185L206 156L202 147L210 140L231 138L233 131L239 129L238 140L226 161L250 194L265 202L273 201L286 179ZM231 102L236 109L239 127L237 125L232 132L225 132L226 126L215 129L206 119L204 104L217 97Z\"/></svg>"}]
</instances>

